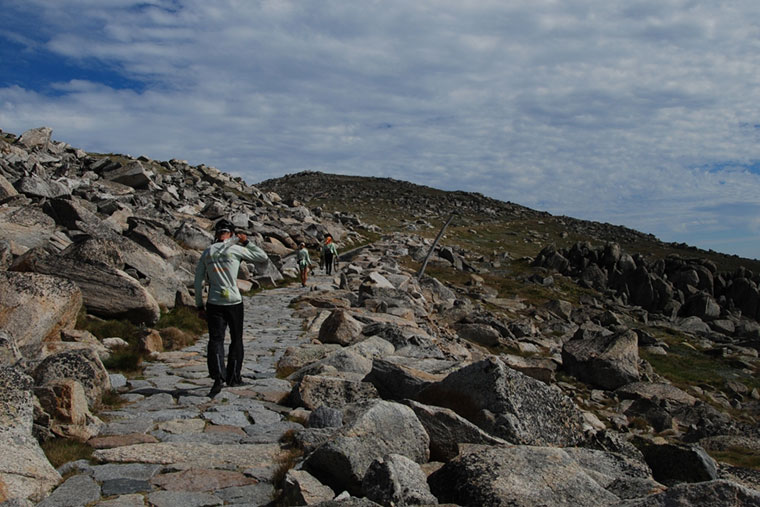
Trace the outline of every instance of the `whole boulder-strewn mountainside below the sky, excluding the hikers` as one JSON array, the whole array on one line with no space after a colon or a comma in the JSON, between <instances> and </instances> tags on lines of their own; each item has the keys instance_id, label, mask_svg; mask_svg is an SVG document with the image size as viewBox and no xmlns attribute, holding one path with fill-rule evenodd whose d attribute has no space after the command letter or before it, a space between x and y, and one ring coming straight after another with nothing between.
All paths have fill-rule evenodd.
<instances>
[{"instance_id":1,"label":"whole boulder-strewn mountainside below the sky, excluding the hikers","mask_svg":"<svg viewBox=\"0 0 760 507\"><path fill-rule=\"evenodd\" d=\"M251 186L44 128L0 154L0 501L86 484L88 502L130 505L760 504L760 280L742 259L394 180ZM298 242L336 239L335 276L270 310L303 336L273 340L276 375L250 365L223 398L205 397L202 347L117 384L113 342L77 315L155 338L193 304L221 217L269 254L243 266L248 288L295 276ZM114 391L130 405L100 414ZM96 463L53 469L53 438L97 445Z\"/></svg>"}]
</instances>

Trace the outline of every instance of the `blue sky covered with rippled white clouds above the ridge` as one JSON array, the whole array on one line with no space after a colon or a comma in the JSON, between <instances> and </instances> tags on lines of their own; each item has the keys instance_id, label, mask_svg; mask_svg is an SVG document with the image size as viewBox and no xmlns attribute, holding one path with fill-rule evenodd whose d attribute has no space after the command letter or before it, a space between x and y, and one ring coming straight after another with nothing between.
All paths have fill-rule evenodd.
<instances>
[{"instance_id":1,"label":"blue sky covered with rippled white clouds above the ridge","mask_svg":"<svg viewBox=\"0 0 760 507\"><path fill-rule=\"evenodd\" d=\"M760 258L757 0L1 0L0 129Z\"/></svg>"}]
</instances>

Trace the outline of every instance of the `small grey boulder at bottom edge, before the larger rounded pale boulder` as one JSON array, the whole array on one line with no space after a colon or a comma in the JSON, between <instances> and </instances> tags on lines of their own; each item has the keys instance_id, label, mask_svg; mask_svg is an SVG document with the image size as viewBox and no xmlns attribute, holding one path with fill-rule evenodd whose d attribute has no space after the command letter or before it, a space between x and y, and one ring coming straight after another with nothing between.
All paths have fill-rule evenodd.
<instances>
[{"instance_id":1,"label":"small grey boulder at bottom edge, before the larger rounded pale boulder","mask_svg":"<svg viewBox=\"0 0 760 507\"><path fill-rule=\"evenodd\" d=\"M380 505L437 505L418 463L400 454L372 462L362 480L364 495Z\"/></svg>"}]
</instances>

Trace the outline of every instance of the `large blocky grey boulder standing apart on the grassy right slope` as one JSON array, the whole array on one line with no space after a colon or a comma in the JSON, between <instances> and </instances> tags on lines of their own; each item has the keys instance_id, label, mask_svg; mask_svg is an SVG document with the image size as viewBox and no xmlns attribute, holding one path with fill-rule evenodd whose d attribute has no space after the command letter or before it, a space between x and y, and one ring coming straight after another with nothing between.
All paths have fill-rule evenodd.
<instances>
[{"instance_id":1,"label":"large blocky grey boulder standing apart on the grassy right slope","mask_svg":"<svg viewBox=\"0 0 760 507\"><path fill-rule=\"evenodd\" d=\"M639 379L638 336L631 330L592 338L580 330L562 347L562 368L603 389L616 389Z\"/></svg>"}]
</instances>

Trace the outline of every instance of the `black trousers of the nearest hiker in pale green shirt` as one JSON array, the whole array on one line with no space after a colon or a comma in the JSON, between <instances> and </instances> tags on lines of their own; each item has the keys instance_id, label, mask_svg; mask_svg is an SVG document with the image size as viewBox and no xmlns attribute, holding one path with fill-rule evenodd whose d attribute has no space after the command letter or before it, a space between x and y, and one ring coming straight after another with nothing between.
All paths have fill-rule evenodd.
<instances>
[{"instance_id":1,"label":"black trousers of the nearest hiker in pale green shirt","mask_svg":"<svg viewBox=\"0 0 760 507\"><path fill-rule=\"evenodd\" d=\"M243 367L243 303L236 305L206 305L208 321L208 373L214 380L240 382ZM230 328L230 350L224 368L224 333Z\"/></svg>"}]
</instances>

